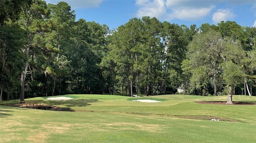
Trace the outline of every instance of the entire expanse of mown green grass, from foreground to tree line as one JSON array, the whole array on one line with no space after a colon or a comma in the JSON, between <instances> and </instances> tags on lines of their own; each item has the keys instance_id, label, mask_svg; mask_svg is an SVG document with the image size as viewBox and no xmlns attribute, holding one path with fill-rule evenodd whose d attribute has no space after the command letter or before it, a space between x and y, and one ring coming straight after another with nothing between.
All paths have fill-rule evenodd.
<instances>
[{"instance_id":1,"label":"entire expanse of mown green grass, from foreground to tree line","mask_svg":"<svg viewBox=\"0 0 256 143\"><path fill-rule=\"evenodd\" d=\"M0 142L256 142L256 105L194 102L226 101L226 96L63 96L73 99L26 100L42 100L47 105L69 108L70 112L0 106ZM137 99L162 102L132 101ZM236 95L233 100L256 102L256 97ZM236 122L203 120L208 116Z\"/></svg>"}]
</instances>

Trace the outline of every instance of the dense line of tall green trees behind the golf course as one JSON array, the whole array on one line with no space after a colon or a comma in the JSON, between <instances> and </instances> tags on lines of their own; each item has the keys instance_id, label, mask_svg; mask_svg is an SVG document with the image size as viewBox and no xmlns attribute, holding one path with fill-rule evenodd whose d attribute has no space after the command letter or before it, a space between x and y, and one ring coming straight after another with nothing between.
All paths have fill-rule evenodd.
<instances>
[{"instance_id":1,"label":"dense line of tall green trees behind the golf course","mask_svg":"<svg viewBox=\"0 0 256 143\"><path fill-rule=\"evenodd\" d=\"M255 95L256 28L133 18L115 30L65 2L0 0L0 101L62 94ZM254 94L254 93L255 94Z\"/></svg>"}]
</instances>

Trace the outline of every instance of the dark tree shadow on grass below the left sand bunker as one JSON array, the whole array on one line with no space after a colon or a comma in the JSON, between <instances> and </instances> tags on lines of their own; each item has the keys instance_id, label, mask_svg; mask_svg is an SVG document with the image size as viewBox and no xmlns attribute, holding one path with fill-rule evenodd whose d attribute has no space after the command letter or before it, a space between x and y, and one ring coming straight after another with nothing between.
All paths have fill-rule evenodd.
<instances>
[{"instance_id":1,"label":"dark tree shadow on grass below the left sand bunker","mask_svg":"<svg viewBox=\"0 0 256 143\"><path fill-rule=\"evenodd\" d=\"M71 99L71 100L51 100L45 103L50 106L64 105L66 107L84 107L91 105L90 103L102 102L98 99Z\"/></svg>"}]
</instances>

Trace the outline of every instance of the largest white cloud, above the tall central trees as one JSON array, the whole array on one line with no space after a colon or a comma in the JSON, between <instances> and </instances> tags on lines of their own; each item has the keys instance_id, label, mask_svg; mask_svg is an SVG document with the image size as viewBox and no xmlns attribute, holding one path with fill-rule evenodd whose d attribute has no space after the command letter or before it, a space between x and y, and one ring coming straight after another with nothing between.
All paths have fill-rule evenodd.
<instances>
[{"instance_id":1,"label":"largest white cloud, above the tall central trees","mask_svg":"<svg viewBox=\"0 0 256 143\"><path fill-rule=\"evenodd\" d=\"M197 8L182 6L181 1L177 0L136 0L136 5L139 6L138 17L150 16L162 20L196 20L207 16L215 8L209 4L209 6Z\"/></svg>"}]
</instances>

